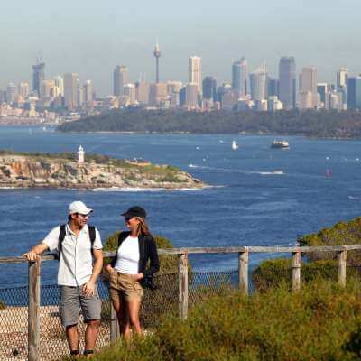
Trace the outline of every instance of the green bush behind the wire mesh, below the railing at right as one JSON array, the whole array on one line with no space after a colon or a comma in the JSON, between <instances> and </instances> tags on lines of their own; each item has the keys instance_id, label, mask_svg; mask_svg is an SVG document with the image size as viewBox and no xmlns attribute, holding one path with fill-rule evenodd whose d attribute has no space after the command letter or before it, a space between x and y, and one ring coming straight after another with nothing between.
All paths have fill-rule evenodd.
<instances>
[{"instance_id":1,"label":"green bush behind the wire mesh, below the railing at right","mask_svg":"<svg viewBox=\"0 0 361 361\"><path fill-rule=\"evenodd\" d=\"M347 267L347 277L356 276L356 267ZM311 282L320 278L323 280L338 280L338 261L320 260L303 262L301 264L301 282ZM291 287L292 284L292 259L277 258L262 262L252 273L255 289L261 292L270 287Z\"/></svg>"}]
</instances>

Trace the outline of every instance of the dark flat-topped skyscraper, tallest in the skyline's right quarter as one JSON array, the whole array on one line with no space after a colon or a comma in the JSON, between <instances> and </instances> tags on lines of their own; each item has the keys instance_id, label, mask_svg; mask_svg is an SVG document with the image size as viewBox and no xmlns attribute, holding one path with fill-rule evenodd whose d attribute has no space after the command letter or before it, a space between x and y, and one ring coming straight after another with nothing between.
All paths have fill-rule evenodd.
<instances>
[{"instance_id":1,"label":"dark flat-topped skyscraper, tallest in the skyline's right quarter","mask_svg":"<svg viewBox=\"0 0 361 361\"><path fill-rule=\"evenodd\" d=\"M286 109L296 107L296 61L282 57L279 64L279 98Z\"/></svg>"}]
</instances>

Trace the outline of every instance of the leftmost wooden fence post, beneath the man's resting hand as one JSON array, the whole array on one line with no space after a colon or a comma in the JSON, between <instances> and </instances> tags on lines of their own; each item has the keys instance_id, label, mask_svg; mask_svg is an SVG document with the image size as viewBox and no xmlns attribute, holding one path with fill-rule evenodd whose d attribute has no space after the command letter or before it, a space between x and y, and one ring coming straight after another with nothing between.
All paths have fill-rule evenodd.
<instances>
[{"instance_id":1,"label":"leftmost wooden fence post, beneath the man's resting hand","mask_svg":"<svg viewBox=\"0 0 361 361\"><path fill-rule=\"evenodd\" d=\"M40 270L41 258L29 262L28 359L37 361L40 344Z\"/></svg>"}]
</instances>

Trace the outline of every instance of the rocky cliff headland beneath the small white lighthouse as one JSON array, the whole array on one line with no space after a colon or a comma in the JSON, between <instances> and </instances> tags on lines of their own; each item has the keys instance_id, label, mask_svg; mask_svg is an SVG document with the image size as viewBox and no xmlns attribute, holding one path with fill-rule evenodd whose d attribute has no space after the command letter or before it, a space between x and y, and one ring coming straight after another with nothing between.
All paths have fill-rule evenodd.
<instances>
[{"instance_id":1,"label":"rocky cliff headland beneath the small white lighthouse","mask_svg":"<svg viewBox=\"0 0 361 361\"><path fill-rule=\"evenodd\" d=\"M0 188L202 188L204 184L185 171L148 162L107 160L84 162L56 155L0 155Z\"/></svg>"}]
</instances>

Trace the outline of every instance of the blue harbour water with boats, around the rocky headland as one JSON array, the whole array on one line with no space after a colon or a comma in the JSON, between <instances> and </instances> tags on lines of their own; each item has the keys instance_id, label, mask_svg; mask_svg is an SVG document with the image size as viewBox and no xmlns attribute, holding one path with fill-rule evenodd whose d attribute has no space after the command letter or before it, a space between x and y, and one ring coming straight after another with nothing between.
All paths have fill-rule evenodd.
<instances>
[{"instance_id":1,"label":"blue harbour water with boats, around the rocky headland","mask_svg":"<svg viewBox=\"0 0 361 361\"><path fill-rule=\"evenodd\" d=\"M103 238L124 227L120 213L137 204L149 212L153 234L167 236L180 247L294 245L300 234L359 216L359 141L290 136L285 137L291 144L287 151L270 149L274 138L280 139L59 134L40 127L0 127L0 149L76 152L82 144L89 153L170 163L213 186L182 191L0 190L0 256L21 255L42 240L51 227L65 222L74 199L94 208L90 223ZM240 145L237 151L231 150L233 139ZM251 255L251 263L265 256ZM236 255L198 255L190 261L199 271L237 265ZM43 263L43 283L56 281L56 266ZM0 265L0 287L24 284L26 277L26 264Z\"/></svg>"}]
</instances>

